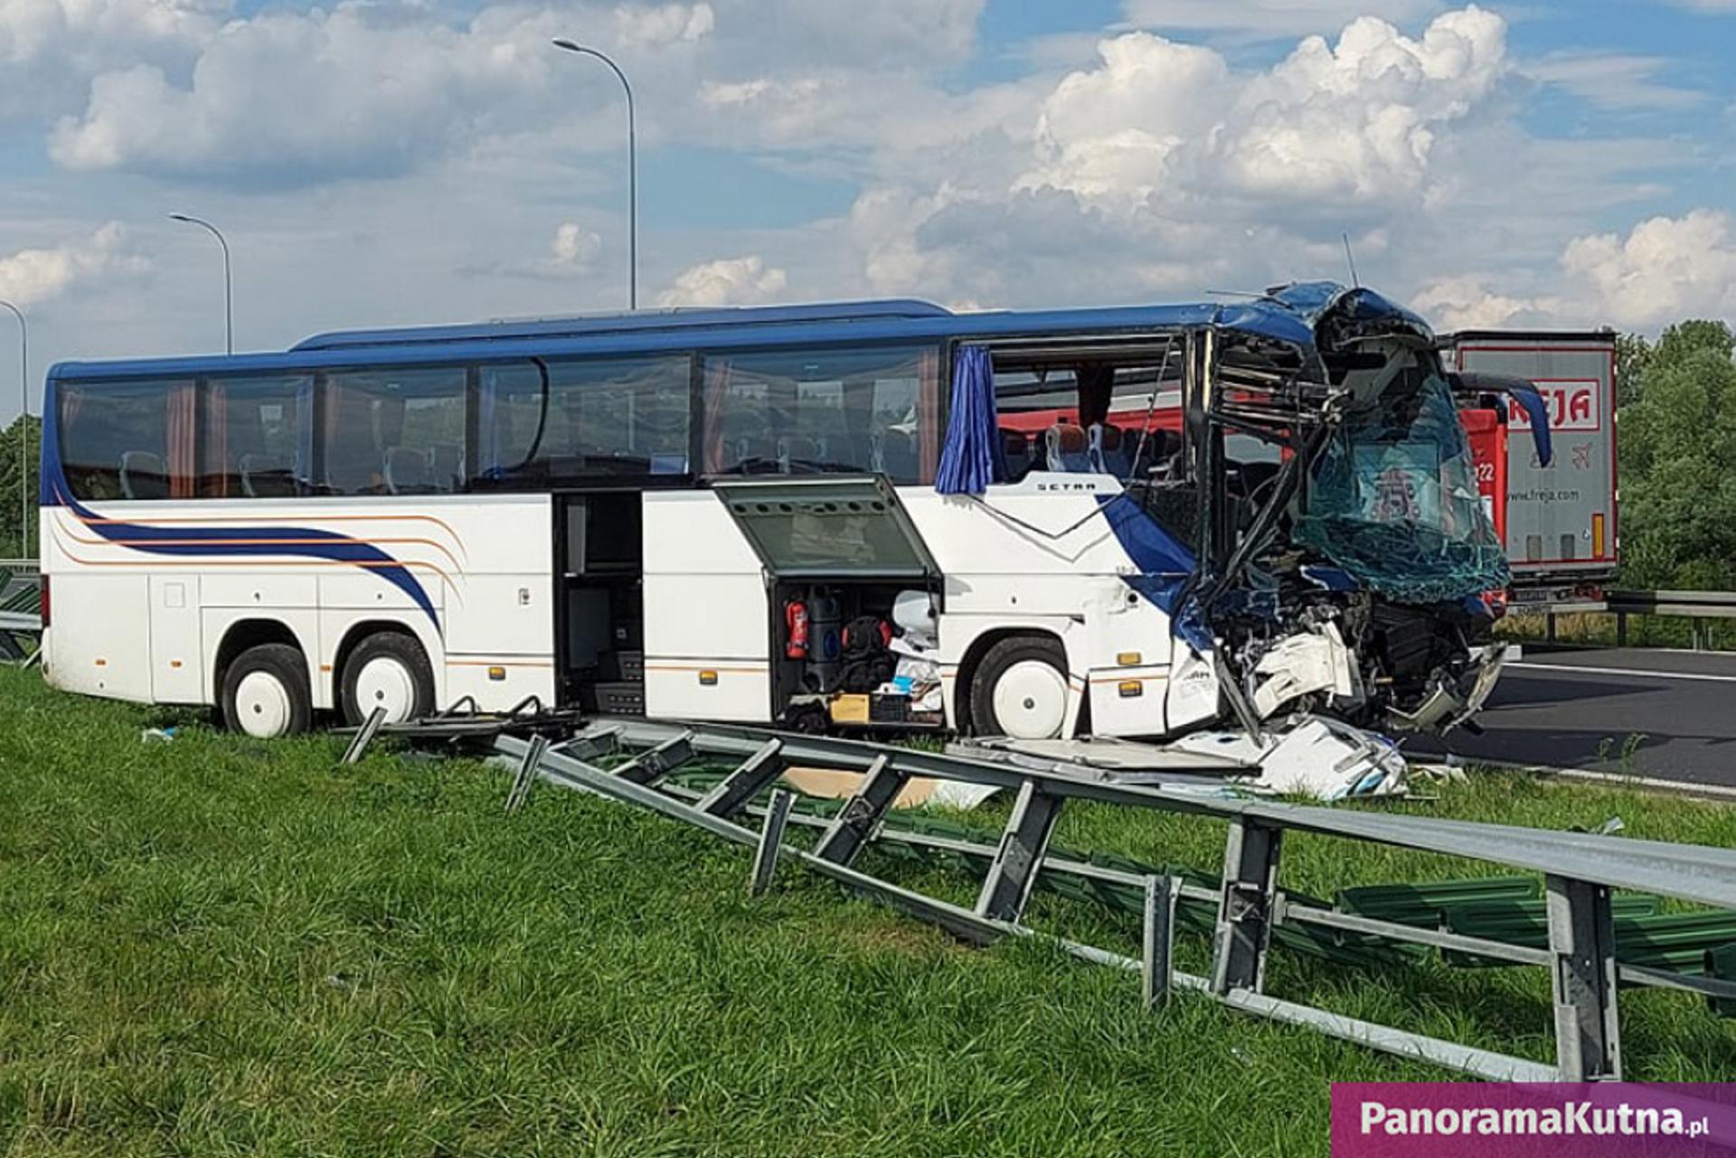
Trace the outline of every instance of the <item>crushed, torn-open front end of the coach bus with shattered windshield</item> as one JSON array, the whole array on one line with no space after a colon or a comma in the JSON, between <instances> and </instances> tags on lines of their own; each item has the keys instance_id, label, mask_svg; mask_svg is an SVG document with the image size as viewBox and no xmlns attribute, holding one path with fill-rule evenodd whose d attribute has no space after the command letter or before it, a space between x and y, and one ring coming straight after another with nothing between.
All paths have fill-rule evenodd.
<instances>
[{"instance_id":1,"label":"crushed, torn-open front end of the coach bus with shattered windshield","mask_svg":"<svg viewBox=\"0 0 1736 1158\"><path fill-rule=\"evenodd\" d=\"M1175 630L1243 729L1465 722L1500 672L1483 595L1507 561L1429 326L1292 285L1189 335L1179 387L1179 455L1130 491L1198 543Z\"/></svg>"}]
</instances>

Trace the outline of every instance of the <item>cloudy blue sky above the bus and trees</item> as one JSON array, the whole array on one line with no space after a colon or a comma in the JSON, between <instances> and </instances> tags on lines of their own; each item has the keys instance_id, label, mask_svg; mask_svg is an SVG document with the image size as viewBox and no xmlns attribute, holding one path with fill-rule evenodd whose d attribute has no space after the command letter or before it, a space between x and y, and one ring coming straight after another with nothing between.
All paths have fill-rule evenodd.
<instances>
[{"instance_id":1,"label":"cloudy blue sky above the bus and trees","mask_svg":"<svg viewBox=\"0 0 1736 1158\"><path fill-rule=\"evenodd\" d=\"M1736 0L28 0L0 297L61 358L642 304L1196 299L1736 314ZM0 366L14 339L0 325ZM16 410L0 375L0 417Z\"/></svg>"}]
</instances>

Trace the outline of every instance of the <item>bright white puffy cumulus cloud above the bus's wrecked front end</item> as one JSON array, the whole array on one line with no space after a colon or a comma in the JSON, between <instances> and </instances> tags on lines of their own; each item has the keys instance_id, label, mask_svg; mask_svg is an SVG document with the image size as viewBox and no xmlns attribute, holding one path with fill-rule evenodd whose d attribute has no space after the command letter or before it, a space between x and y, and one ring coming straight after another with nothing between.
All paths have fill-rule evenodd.
<instances>
[{"instance_id":1,"label":"bright white puffy cumulus cloud above the bus's wrecked front end","mask_svg":"<svg viewBox=\"0 0 1736 1158\"><path fill-rule=\"evenodd\" d=\"M1019 188L1087 198L1227 188L1286 200L1418 191L1443 125L1507 69L1505 23L1467 7L1420 38L1361 17L1338 42L1309 36L1274 68L1234 75L1215 50L1151 33L1102 42L1043 104L1040 167Z\"/></svg>"}]
</instances>

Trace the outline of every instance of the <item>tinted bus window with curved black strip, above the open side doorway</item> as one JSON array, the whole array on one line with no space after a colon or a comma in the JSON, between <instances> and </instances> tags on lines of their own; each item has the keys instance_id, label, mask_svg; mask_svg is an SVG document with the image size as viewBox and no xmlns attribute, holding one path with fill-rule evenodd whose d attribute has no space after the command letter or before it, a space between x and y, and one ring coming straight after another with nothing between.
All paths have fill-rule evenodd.
<instances>
[{"instance_id":1,"label":"tinted bus window with curved black strip, above the open side doorway","mask_svg":"<svg viewBox=\"0 0 1736 1158\"><path fill-rule=\"evenodd\" d=\"M483 368L483 476L687 474L686 354Z\"/></svg>"}]
</instances>

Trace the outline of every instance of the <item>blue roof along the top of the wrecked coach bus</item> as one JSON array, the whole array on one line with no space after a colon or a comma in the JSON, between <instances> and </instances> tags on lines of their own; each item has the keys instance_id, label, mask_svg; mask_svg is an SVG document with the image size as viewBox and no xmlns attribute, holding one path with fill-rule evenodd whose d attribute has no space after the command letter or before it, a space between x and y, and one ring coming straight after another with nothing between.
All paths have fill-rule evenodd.
<instances>
[{"instance_id":1,"label":"blue roof along the top of the wrecked coach bus","mask_svg":"<svg viewBox=\"0 0 1736 1158\"><path fill-rule=\"evenodd\" d=\"M335 366L503 358L630 356L743 347L840 345L851 342L995 340L1007 337L1141 333L1217 326L1311 347L1323 309L1354 300L1375 313L1404 314L1368 290L1297 283L1231 302L1111 306L1092 309L953 313L932 302L885 299L811 306L660 309L526 321L486 321L391 330L318 333L283 352L62 361L50 378L306 372ZM1410 314L1404 314L1410 318ZM1420 326L1420 319L1417 319Z\"/></svg>"}]
</instances>

